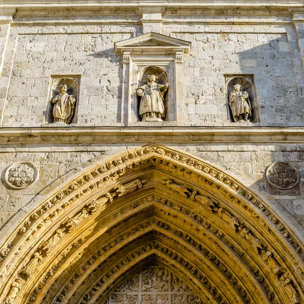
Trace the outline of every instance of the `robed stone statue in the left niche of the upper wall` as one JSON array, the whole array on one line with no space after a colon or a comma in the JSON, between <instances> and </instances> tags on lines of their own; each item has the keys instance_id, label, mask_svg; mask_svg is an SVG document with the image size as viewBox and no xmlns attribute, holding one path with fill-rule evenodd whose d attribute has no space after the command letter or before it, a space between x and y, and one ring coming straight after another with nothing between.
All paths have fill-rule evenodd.
<instances>
[{"instance_id":1,"label":"robed stone statue in the left niche of the upper wall","mask_svg":"<svg viewBox=\"0 0 304 304\"><path fill-rule=\"evenodd\" d=\"M60 86L60 93L52 100L55 103L53 115L55 122L69 124L74 113L75 97L67 94L67 86Z\"/></svg>"}]
</instances>

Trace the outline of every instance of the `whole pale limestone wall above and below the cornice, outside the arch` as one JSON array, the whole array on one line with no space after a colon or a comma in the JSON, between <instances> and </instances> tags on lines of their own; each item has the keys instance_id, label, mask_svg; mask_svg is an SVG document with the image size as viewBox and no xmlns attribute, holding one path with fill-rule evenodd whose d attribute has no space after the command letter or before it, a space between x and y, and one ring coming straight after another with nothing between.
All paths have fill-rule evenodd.
<instances>
[{"instance_id":1,"label":"whole pale limestone wall above and below the cornice, outside the arch","mask_svg":"<svg viewBox=\"0 0 304 304\"><path fill-rule=\"evenodd\" d=\"M293 139L289 139L287 128L304 126L303 29L295 21L301 20L300 15L286 8L256 13L233 9L185 13L168 9L163 11L159 24L151 25L141 21L142 13L131 9L120 14L68 10L34 13L20 10L10 26L0 24L0 133L10 132L11 127L29 128L17 139L13 135L0 136L0 240L30 210L84 168L151 142L185 151L229 172L260 195L304 238L302 128L296 130L298 135ZM191 137L186 142L188 133L167 141L162 134L145 137L130 133L125 137L117 135L115 143L102 135L96 139L94 129L81 140L76 135L62 135L65 130L85 133L92 126L128 130L131 124L121 120L126 74L123 56L117 54L114 44L149 31L191 42L191 52L183 55L183 74L178 75L184 85L185 121L136 122L133 126L140 130L153 126L158 134L163 127L171 127L173 133L183 126L197 130L236 129L220 139L209 136L196 142ZM226 75L251 75L254 79L258 105L255 122L232 122ZM47 119L52 77L60 76L80 78L75 117L69 125ZM250 134L262 127L262 132L267 133L272 132L268 129L271 126L286 128L285 135L278 139L268 133L259 141L247 134L234 143L234 132L247 128ZM33 127L47 127L49 137L34 137ZM124 132L117 130L118 134ZM26 142L32 136L34 139ZM5 172L20 161L35 164L39 179L31 187L16 190L5 182ZM264 171L274 162L288 162L299 171L301 180L294 191L270 195Z\"/></svg>"}]
</instances>

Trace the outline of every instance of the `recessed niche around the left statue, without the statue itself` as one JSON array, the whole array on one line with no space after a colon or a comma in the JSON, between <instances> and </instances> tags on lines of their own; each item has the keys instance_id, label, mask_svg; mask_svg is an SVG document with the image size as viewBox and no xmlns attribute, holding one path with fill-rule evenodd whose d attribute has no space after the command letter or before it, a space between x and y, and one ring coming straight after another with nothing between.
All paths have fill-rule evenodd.
<instances>
[{"instance_id":1,"label":"recessed niche around the left statue, without the statue itself","mask_svg":"<svg viewBox=\"0 0 304 304\"><path fill-rule=\"evenodd\" d=\"M60 86L67 85L67 93L69 95L73 95L76 98L74 113L71 118L70 124L77 122L77 111L78 111L78 103L79 103L79 89L80 89L80 77L78 76L71 76L71 77L63 77L63 76L53 76L52 83L50 88L50 97L48 98L48 105L46 110L46 121L47 123L54 122L53 116L53 107L54 104L52 100L55 96L60 93Z\"/></svg>"}]
</instances>

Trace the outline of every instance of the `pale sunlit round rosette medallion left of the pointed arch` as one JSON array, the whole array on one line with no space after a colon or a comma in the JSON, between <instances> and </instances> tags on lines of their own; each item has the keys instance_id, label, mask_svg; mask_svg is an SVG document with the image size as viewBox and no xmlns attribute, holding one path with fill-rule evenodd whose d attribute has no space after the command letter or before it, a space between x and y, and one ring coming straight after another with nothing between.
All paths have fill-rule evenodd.
<instances>
[{"instance_id":1,"label":"pale sunlit round rosette medallion left of the pointed arch","mask_svg":"<svg viewBox=\"0 0 304 304\"><path fill-rule=\"evenodd\" d=\"M5 173L6 183L14 189L24 189L32 185L39 177L38 169L29 162L11 165Z\"/></svg>"}]
</instances>

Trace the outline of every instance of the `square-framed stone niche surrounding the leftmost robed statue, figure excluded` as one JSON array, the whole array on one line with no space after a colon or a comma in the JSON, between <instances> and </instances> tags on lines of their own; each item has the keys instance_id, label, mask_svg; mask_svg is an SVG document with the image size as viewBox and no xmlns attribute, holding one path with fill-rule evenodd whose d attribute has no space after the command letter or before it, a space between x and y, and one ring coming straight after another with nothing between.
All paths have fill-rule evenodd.
<instances>
[{"instance_id":1,"label":"square-framed stone niche surrounding the leftmost robed statue, figure excluded","mask_svg":"<svg viewBox=\"0 0 304 304\"><path fill-rule=\"evenodd\" d=\"M53 115L53 109L55 103L54 98L60 94L60 88L66 85L66 93L70 100L74 99L73 104L70 105L69 111L70 116L67 118L66 122L56 122ZM80 89L80 75L53 75L51 81L50 94L48 98L48 105L46 110L46 121L47 123L61 123L61 124L74 124L77 122L77 110L79 102L79 89ZM60 101L57 101L58 103Z\"/></svg>"}]
</instances>

